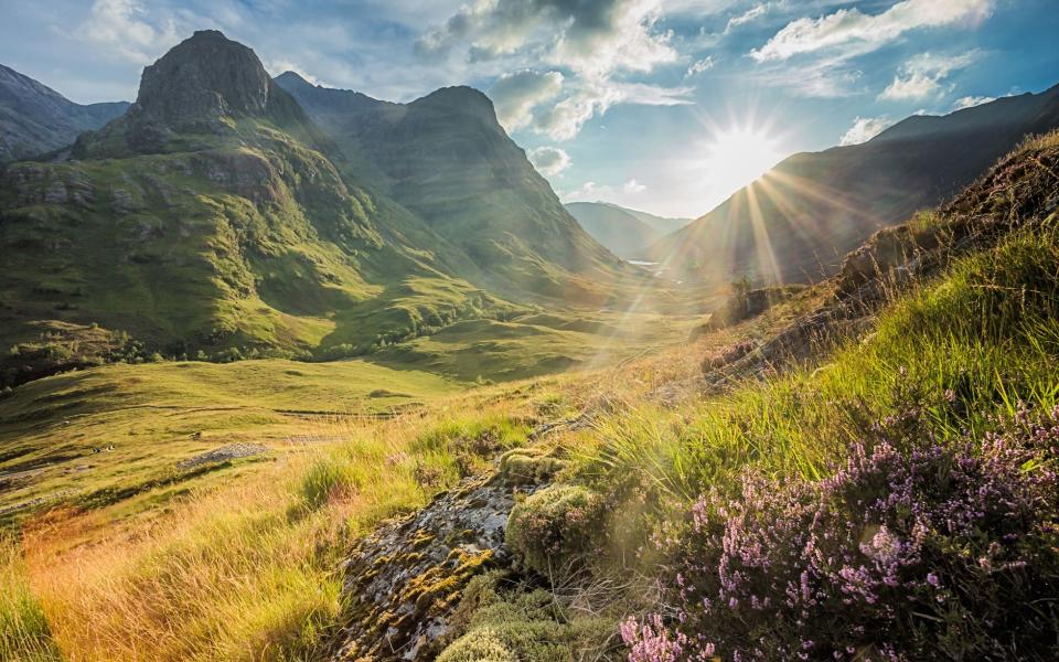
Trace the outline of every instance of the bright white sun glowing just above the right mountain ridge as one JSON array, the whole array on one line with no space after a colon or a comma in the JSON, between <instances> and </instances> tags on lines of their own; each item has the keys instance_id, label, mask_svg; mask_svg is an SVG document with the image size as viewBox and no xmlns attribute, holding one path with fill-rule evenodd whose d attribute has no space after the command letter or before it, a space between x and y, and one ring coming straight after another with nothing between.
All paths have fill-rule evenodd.
<instances>
[{"instance_id":1,"label":"bright white sun glowing just above the right mountain ridge","mask_svg":"<svg viewBox=\"0 0 1059 662\"><path fill-rule=\"evenodd\" d=\"M703 166L712 188L728 195L764 174L782 158L777 140L764 130L734 127L713 135Z\"/></svg>"}]
</instances>

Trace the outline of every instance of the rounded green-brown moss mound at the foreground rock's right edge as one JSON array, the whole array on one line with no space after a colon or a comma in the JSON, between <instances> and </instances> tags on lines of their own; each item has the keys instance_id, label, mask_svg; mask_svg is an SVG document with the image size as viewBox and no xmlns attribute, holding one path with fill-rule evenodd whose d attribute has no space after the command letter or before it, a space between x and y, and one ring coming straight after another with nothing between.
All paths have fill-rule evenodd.
<instances>
[{"instance_id":1,"label":"rounded green-brown moss mound at the foreground rock's right edge","mask_svg":"<svg viewBox=\"0 0 1059 662\"><path fill-rule=\"evenodd\" d=\"M578 564L602 535L603 500L582 485L556 484L515 504L506 543L545 577Z\"/></svg>"}]
</instances>

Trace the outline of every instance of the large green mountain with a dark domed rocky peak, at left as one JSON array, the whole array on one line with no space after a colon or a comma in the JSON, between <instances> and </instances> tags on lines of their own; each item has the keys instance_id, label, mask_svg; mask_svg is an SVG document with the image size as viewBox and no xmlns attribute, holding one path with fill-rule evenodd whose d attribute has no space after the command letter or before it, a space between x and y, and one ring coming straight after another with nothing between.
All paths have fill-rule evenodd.
<instances>
[{"instance_id":1,"label":"large green mountain with a dark domed rocky peak, at left","mask_svg":"<svg viewBox=\"0 0 1059 662\"><path fill-rule=\"evenodd\" d=\"M156 351L362 354L514 310L333 150L250 49L173 47L71 159L0 170L2 381Z\"/></svg>"}]
</instances>

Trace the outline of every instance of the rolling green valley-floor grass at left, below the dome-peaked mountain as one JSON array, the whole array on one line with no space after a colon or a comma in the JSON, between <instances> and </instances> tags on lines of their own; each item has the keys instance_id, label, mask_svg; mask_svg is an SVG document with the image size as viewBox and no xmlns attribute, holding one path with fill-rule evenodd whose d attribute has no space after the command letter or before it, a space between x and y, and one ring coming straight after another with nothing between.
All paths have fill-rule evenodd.
<instances>
[{"instance_id":1,"label":"rolling green valley-floor grass at left, below the dome-peaked mountain","mask_svg":"<svg viewBox=\"0 0 1059 662\"><path fill-rule=\"evenodd\" d=\"M0 474L10 481L0 508L43 499L44 506L116 504L124 515L151 510L192 485L218 484L261 459L332 440L320 433L327 421L386 416L459 388L363 361L165 362L55 375L0 399ZM233 442L270 452L178 468Z\"/></svg>"}]
</instances>

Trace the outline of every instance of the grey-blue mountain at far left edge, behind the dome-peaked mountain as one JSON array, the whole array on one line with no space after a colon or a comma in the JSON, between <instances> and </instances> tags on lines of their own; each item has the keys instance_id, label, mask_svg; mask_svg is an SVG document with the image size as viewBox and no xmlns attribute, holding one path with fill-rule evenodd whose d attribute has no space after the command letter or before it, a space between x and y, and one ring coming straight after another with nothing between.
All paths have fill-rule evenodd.
<instances>
[{"instance_id":1,"label":"grey-blue mountain at far left edge, behind the dome-peaked mountain","mask_svg":"<svg viewBox=\"0 0 1059 662\"><path fill-rule=\"evenodd\" d=\"M66 147L129 107L127 102L71 102L54 89L0 64L0 163Z\"/></svg>"}]
</instances>

